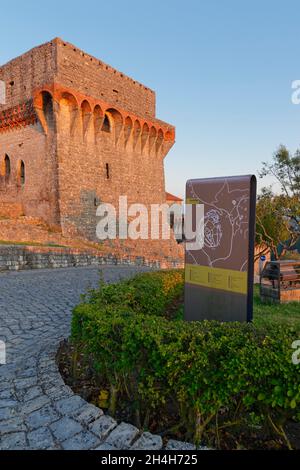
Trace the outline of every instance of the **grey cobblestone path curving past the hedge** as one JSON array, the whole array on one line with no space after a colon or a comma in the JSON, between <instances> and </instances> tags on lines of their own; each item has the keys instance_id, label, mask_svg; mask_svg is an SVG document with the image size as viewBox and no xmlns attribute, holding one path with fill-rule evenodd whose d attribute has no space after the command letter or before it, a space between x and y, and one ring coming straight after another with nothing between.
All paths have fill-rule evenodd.
<instances>
[{"instance_id":1,"label":"grey cobblestone path curving past the hedge","mask_svg":"<svg viewBox=\"0 0 300 470\"><path fill-rule=\"evenodd\" d=\"M106 282L146 268L101 267ZM0 450L161 449L160 436L118 424L64 384L55 363L60 341L70 333L71 310L99 267L0 274ZM167 449L193 449L170 440Z\"/></svg>"}]
</instances>

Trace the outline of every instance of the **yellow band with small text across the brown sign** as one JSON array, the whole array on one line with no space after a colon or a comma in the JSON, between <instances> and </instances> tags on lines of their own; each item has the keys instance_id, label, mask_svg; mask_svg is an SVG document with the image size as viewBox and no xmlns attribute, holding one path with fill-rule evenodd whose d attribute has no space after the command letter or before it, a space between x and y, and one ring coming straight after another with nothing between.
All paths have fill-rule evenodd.
<instances>
[{"instance_id":1,"label":"yellow band with small text across the brown sign","mask_svg":"<svg viewBox=\"0 0 300 470\"><path fill-rule=\"evenodd\" d=\"M247 272L209 266L185 265L185 282L239 294L247 294Z\"/></svg>"}]
</instances>

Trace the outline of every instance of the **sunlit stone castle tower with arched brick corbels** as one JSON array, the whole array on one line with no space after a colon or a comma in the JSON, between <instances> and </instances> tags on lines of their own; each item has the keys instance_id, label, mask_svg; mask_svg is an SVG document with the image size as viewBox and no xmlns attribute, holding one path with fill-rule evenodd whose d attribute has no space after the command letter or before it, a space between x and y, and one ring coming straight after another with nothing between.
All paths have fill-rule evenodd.
<instances>
[{"instance_id":1,"label":"sunlit stone castle tower with arched brick corbels","mask_svg":"<svg viewBox=\"0 0 300 470\"><path fill-rule=\"evenodd\" d=\"M95 238L99 202L163 203L173 126L155 93L59 38L0 68L0 216Z\"/></svg>"}]
</instances>

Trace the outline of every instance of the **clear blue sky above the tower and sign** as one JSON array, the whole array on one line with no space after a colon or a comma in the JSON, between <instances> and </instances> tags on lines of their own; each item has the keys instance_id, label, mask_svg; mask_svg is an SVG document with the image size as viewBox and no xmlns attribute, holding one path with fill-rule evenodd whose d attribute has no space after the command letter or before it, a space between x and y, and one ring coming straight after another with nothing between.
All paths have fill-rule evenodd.
<instances>
[{"instance_id":1,"label":"clear blue sky above the tower and sign","mask_svg":"<svg viewBox=\"0 0 300 470\"><path fill-rule=\"evenodd\" d=\"M0 63L60 36L154 89L176 126L166 186L256 173L300 146L300 2L18 1L1 4Z\"/></svg>"}]
</instances>

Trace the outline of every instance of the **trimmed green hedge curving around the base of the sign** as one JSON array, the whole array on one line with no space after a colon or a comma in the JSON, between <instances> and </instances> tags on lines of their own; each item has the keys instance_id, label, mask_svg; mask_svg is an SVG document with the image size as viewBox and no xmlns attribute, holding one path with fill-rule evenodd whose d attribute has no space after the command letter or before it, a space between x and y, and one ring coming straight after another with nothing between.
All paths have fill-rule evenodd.
<instances>
[{"instance_id":1,"label":"trimmed green hedge curving around the base of the sign","mask_svg":"<svg viewBox=\"0 0 300 470\"><path fill-rule=\"evenodd\" d=\"M200 442L218 420L283 425L300 418L293 329L184 322L164 317L183 291L182 271L104 285L73 311L72 340L111 386L111 411L127 393L147 423L172 402L188 438Z\"/></svg>"}]
</instances>

